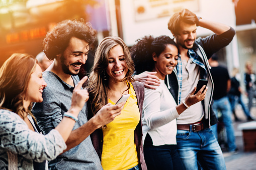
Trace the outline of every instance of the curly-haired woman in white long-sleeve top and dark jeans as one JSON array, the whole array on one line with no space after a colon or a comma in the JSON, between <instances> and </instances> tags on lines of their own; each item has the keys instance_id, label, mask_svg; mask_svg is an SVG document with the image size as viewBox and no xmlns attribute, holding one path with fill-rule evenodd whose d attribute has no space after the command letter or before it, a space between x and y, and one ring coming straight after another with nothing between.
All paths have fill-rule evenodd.
<instances>
[{"instance_id":1,"label":"curly-haired woman in white long-sleeve top and dark jeans","mask_svg":"<svg viewBox=\"0 0 256 170\"><path fill-rule=\"evenodd\" d=\"M156 72L160 86L145 88L142 113L144 157L148 169L185 169L177 151L176 118L191 105L203 100L205 86L194 95L196 88L177 105L164 84L166 75L171 74L178 64L178 46L167 36L153 38L145 36L131 48L135 70L138 74ZM142 64L143 63L143 64Z\"/></svg>"}]
</instances>

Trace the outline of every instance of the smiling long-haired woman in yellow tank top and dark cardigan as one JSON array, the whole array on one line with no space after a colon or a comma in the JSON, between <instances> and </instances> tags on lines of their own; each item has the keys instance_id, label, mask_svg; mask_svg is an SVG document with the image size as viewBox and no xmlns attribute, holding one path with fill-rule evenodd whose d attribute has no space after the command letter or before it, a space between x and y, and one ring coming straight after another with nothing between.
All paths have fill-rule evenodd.
<instances>
[{"instance_id":1,"label":"smiling long-haired woman in yellow tank top and dark cardigan","mask_svg":"<svg viewBox=\"0 0 256 170\"><path fill-rule=\"evenodd\" d=\"M128 47L119 37L106 37L99 45L88 86L88 116L130 94L121 115L92 135L103 169L146 169L142 149L141 112L144 86L131 76L134 64Z\"/></svg>"}]
</instances>

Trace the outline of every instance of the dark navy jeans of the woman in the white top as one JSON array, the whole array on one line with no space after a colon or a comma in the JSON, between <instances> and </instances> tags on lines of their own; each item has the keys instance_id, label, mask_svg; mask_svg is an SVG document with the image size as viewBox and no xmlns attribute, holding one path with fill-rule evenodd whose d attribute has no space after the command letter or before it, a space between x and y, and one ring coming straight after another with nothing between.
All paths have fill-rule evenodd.
<instances>
[{"instance_id":1,"label":"dark navy jeans of the woman in the white top","mask_svg":"<svg viewBox=\"0 0 256 170\"><path fill-rule=\"evenodd\" d=\"M185 169L180 155L177 152L176 145L165 144L153 146L152 139L147 133L143 150L148 170Z\"/></svg>"}]
</instances>

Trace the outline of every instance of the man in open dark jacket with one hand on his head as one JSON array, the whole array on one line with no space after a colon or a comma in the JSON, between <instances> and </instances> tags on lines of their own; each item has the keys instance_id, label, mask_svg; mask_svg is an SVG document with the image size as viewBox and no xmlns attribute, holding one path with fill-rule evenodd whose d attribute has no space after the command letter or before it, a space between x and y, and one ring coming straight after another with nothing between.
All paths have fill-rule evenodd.
<instances>
[{"instance_id":1,"label":"man in open dark jacket with one hand on his head","mask_svg":"<svg viewBox=\"0 0 256 170\"><path fill-rule=\"evenodd\" d=\"M197 26L215 34L196 39ZM187 103L190 108L177 118L179 154L186 169L198 169L198 162L204 169L226 169L221 148L210 128L217 123L217 118L212 109L213 81L208 59L232 41L235 31L227 25L203 20L187 9L170 18L168 29L174 35L181 55L176 70L165 79L177 104L185 99L199 79L208 80L205 100L192 106ZM135 79L145 87L153 88L150 85L159 83L154 74L141 73Z\"/></svg>"}]
</instances>

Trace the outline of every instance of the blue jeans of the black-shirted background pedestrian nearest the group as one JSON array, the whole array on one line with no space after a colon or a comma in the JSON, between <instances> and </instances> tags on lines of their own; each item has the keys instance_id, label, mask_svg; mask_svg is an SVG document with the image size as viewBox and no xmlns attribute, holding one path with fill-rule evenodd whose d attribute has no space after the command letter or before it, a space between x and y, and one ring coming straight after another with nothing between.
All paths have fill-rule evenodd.
<instances>
[{"instance_id":1,"label":"blue jeans of the black-shirted background pedestrian nearest the group","mask_svg":"<svg viewBox=\"0 0 256 170\"><path fill-rule=\"evenodd\" d=\"M234 151L236 149L236 144L235 144L234 128L233 128L232 119L231 119L232 111L231 111L228 97L222 97L218 100L214 100L212 108L216 115L218 113L218 110L222 113L222 121L226 128L228 149L229 151ZM214 132L214 135L216 136L216 138L218 138L217 125L212 126L212 131Z\"/></svg>"}]
</instances>

